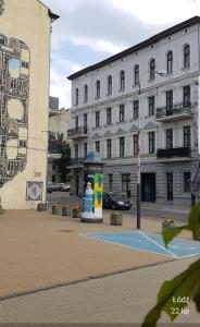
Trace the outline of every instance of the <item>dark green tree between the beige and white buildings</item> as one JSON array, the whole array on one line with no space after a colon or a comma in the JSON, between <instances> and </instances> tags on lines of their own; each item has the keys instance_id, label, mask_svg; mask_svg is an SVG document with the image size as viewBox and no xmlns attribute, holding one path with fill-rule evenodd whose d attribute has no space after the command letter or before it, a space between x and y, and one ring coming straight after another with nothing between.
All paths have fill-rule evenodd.
<instances>
[{"instance_id":1,"label":"dark green tree between the beige and white buildings","mask_svg":"<svg viewBox=\"0 0 200 327\"><path fill-rule=\"evenodd\" d=\"M55 145L58 147L58 153L61 154L59 159L54 159L53 164L55 165L57 171L61 175L61 182L70 182L72 177L70 174L68 167L71 166L71 147L70 143L64 140L63 133L57 133L55 135Z\"/></svg>"}]
</instances>

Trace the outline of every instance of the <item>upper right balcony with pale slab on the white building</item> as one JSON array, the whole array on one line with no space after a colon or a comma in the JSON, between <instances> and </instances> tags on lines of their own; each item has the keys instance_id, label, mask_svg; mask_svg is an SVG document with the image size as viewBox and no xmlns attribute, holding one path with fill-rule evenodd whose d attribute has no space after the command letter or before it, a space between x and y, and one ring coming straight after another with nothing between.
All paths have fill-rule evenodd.
<instances>
[{"instance_id":1,"label":"upper right balcony with pale slab on the white building","mask_svg":"<svg viewBox=\"0 0 200 327\"><path fill-rule=\"evenodd\" d=\"M191 104L185 106L184 104L173 105L171 108L160 107L157 108L157 121L158 122L171 122L176 120L183 120L191 118Z\"/></svg>"}]
</instances>

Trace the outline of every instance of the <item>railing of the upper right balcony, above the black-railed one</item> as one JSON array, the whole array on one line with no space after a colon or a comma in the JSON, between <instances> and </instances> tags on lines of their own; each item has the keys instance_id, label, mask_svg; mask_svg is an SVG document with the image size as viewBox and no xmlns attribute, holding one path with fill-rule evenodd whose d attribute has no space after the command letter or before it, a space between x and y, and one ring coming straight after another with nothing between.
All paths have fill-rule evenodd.
<instances>
[{"instance_id":1,"label":"railing of the upper right balcony, above the black-railed one","mask_svg":"<svg viewBox=\"0 0 200 327\"><path fill-rule=\"evenodd\" d=\"M165 119L173 116L190 116L191 104L175 104L172 107L159 107L157 108L157 119Z\"/></svg>"}]
</instances>

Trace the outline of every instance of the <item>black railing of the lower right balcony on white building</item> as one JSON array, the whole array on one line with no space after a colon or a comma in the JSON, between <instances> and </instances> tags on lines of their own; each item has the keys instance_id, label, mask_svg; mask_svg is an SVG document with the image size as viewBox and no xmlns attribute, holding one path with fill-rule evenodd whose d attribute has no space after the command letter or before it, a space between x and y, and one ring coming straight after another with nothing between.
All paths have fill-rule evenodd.
<instances>
[{"instance_id":1,"label":"black railing of the lower right balcony on white building","mask_svg":"<svg viewBox=\"0 0 200 327\"><path fill-rule=\"evenodd\" d=\"M191 157L191 148L186 147L172 147L172 148L159 148L157 150L157 158L172 158L172 157Z\"/></svg>"}]
</instances>

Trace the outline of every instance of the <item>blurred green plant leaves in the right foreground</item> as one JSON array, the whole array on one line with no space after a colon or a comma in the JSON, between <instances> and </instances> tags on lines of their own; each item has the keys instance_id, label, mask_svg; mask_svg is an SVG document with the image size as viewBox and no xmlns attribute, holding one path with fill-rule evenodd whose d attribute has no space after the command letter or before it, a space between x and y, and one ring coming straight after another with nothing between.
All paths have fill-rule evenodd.
<instances>
[{"instance_id":1,"label":"blurred green plant leaves in the right foreground","mask_svg":"<svg viewBox=\"0 0 200 327\"><path fill-rule=\"evenodd\" d=\"M165 230L163 239L165 246L178 235L183 230L189 230L193 239L200 239L200 203L198 203L188 216L188 225ZM174 303L174 299L187 298L193 301L197 311L200 312L200 259L192 263L185 271L180 272L170 281L165 281L158 293L158 301L155 306L147 314L142 323L142 327L157 326L162 312L165 312L171 322L173 322L188 305L188 301ZM175 311L172 311L176 307Z\"/></svg>"}]
</instances>

